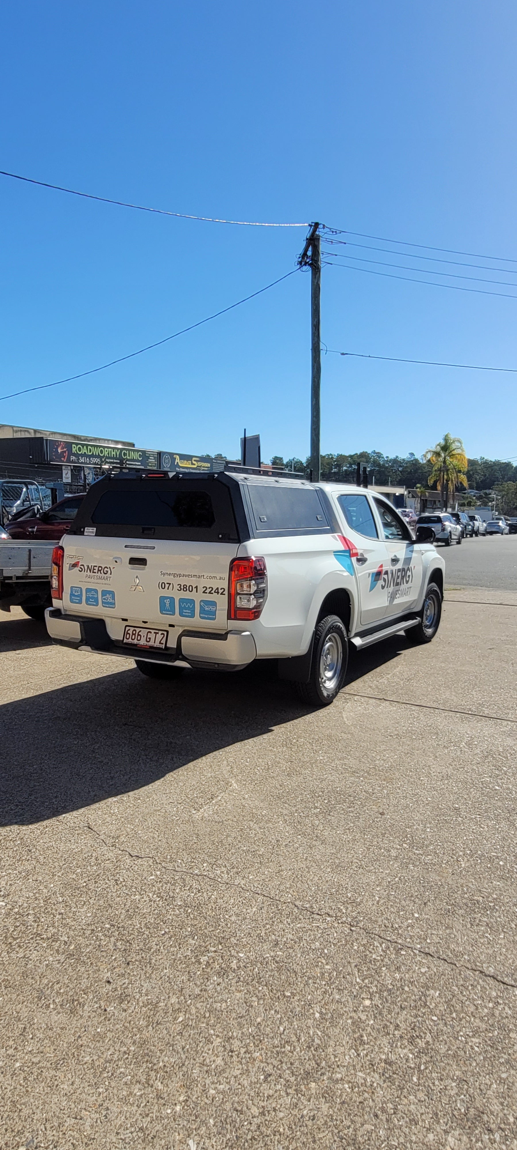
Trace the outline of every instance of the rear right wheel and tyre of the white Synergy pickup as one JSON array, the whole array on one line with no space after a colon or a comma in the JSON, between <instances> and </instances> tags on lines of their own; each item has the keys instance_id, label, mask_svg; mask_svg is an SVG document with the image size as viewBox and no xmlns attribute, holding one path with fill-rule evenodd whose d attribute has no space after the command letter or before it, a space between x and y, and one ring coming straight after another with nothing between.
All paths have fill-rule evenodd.
<instances>
[{"instance_id":1,"label":"rear right wheel and tyre of the white Synergy pickup","mask_svg":"<svg viewBox=\"0 0 517 1150\"><path fill-rule=\"evenodd\" d=\"M348 665L348 636L338 615L326 615L314 634L312 660L308 683L295 683L296 693L315 707L333 703L345 682Z\"/></svg>"}]
</instances>

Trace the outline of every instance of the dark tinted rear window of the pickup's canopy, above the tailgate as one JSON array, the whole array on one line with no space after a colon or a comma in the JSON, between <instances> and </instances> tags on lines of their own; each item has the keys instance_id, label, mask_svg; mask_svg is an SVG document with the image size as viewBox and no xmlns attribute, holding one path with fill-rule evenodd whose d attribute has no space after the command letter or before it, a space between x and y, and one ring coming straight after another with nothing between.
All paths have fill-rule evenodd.
<instances>
[{"instance_id":1,"label":"dark tinted rear window of the pickup's canopy, above the tailgate","mask_svg":"<svg viewBox=\"0 0 517 1150\"><path fill-rule=\"evenodd\" d=\"M237 540L230 491L210 481L142 478L94 484L74 523L74 530L82 528L94 528L99 536Z\"/></svg>"}]
</instances>

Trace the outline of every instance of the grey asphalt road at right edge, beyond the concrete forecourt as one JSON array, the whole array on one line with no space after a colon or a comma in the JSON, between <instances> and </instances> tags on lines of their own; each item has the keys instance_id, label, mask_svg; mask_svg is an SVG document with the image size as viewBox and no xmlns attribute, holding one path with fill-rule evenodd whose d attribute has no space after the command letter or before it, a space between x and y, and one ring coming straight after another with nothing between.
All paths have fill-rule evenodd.
<instances>
[{"instance_id":1,"label":"grey asphalt road at right edge, beyond the concrete forecourt","mask_svg":"<svg viewBox=\"0 0 517 1150\"><path fill-rule=\"evenodd\" d=\"M446 586L488 586L517 591L517 535L480 535L458 547L438 550L446 562Z\"/></svg>"}]
</instances>

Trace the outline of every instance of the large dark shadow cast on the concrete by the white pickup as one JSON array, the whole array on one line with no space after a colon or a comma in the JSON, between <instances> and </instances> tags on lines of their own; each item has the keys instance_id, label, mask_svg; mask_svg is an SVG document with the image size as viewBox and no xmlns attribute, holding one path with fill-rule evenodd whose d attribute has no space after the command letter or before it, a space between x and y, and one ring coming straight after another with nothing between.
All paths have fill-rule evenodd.
<instances>
[{"instance_id":1,"label":"large dark shadow cast on the concrete by the white pickup","mask_svg":"<svg viewBox=\"0 0 517 1150\"><path fill-rule=\"evenodd\" d=\"M354 657L348 682L396 658L403 643ZM139 790L310 711L278 680L275 662L238 674L185 672L169 682L134 668L7 703L0 707L0 826L40 822Z\"/></svg>"}]
</instances>

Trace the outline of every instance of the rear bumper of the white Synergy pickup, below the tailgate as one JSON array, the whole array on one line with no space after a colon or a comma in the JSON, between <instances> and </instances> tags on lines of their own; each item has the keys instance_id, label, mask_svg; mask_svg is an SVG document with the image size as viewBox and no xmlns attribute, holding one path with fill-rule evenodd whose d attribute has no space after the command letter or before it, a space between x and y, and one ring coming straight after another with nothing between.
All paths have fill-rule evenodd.
<instances>
[{"instance_id":1,"label":"rear bumper of the white Synergy pickup, below the tailgate","mask_svg":"<svg viewBox=\"0 0 517 1150\"><path fill-rule=\"evenodd\" d=\"M188 664L191 667L210 667L216 670L242 670L256 658L256 646L249 631L182 631L176 647L149 651L118 643L108 635L103 619L84 619L67 615L57 607L45 612L47 631L54 643L98 654L114 654L122 659L141 659L147 662Z\"/></svg>"}]
</instances>

